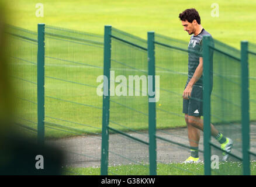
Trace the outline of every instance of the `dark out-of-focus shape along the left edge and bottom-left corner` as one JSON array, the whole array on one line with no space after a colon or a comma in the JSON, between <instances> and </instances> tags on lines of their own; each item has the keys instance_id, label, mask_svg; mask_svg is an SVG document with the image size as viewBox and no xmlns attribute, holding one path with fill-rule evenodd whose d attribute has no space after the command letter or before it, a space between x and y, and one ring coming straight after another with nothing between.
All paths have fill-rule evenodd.
<instances>
[{"instance_id":1,"label":"dark out-of-focus shape along the left edge and bottom-left corner","mask_svg":"<svg viewBox=\"0 0 256 187\"><path fill-rule=\"evenodd\" d=\"M0 1L0 175L61 175L61 151L37 145L17 130L19 124L15 123L15 109L18 106L13 93L22 85L12 85L10 75L25 72L15 72L15 68L9 67L11 60L6 49L11 47L18 53L18 47L22 46L9 43L5 15L5 4ZM14 57L15 53L12 54Z\"/></svg>"}]
</instances>

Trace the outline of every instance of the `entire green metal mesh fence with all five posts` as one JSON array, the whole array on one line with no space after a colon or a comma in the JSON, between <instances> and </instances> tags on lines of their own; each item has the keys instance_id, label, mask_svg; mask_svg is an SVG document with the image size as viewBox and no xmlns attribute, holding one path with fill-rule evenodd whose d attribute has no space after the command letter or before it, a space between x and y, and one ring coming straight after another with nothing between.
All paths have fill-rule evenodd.
<instances>
[{"instance_id":1,"label":"entire green metal mesh fence with all five posts","mask_svg":"<svg viewBox=\"0 0 256 187\"><path fill-rule=\"evenodd\" d=\"M63 174L248 175L254 168L255 44L242 42L240 51L204 40L204 162L186 165L187 42L154 32L146 41L111 26L104 37L44 24L37 33L7 27L18 127L65 151ZM227 162L210 123L234 141ZM211 168L212 155L219 169Z\"/></svg>"}]
</instances>

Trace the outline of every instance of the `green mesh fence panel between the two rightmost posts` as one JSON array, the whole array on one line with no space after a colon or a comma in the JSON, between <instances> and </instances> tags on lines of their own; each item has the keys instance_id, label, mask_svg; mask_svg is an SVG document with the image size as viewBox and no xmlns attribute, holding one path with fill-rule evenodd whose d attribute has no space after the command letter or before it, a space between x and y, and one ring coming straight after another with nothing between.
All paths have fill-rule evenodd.
<instances>
[{"instance_id":1,"label":"green mesh fence panel between the two rightmost posts","mask_svg":"<svg viewBox=\"0 0 256 187\"><path fill-rule=\"evenodd\" d=\"M241 130L241 60L240 51L214 40L210 45L213 75L211 93L211 123L224 137L233 140L233 148L227 161L222 161L220 143L212 137L212 155L219 160L219 167L212 167L212 175L242 175Z\"/></svg>"}]
</instances>

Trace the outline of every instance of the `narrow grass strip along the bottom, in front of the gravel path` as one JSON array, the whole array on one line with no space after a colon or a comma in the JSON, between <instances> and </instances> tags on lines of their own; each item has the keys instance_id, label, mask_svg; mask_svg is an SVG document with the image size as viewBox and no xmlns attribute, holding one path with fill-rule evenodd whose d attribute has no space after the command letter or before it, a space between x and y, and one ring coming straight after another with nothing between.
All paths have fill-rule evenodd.
<instances>
[{"instance_id":1,"label":"narrow grass strip along the bottom, in front of the gravel path","mask_svg":"<svg viewBox=\"0 0 256 187\"><path fill-rule=\"evenodd\" d=\"M198 164L158 164L158 175L204 175L203 163ZM141 165L119 165L109 167L109 175L148 175L148 169ZM241 162L222 162L219 169L212 169L212 175L241 175ZM99 175L100 168L66 168L64 174L71 175ZM256 175L256 164L251 162L251 175Z\"/></svg>"}]
</instances>

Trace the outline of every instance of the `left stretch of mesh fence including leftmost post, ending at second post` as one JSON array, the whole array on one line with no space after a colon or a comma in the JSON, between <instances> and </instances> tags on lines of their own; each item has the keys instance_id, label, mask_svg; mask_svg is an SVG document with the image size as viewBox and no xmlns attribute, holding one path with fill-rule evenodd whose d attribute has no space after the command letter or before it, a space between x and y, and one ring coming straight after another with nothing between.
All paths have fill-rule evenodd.
<instances>
[{"instance_id":1,"label":"left stretch of mesh fence including leftmost post, ending at second post","mask_svg":"<svg viewBox=\"0 0 256 187\"><path fill-rule=\"evenodd\" d=\"M63 174L99 175L103 36L44 24L38 34L6 27L17 127L64 151Z\"/></svg>"}]
</instances>

